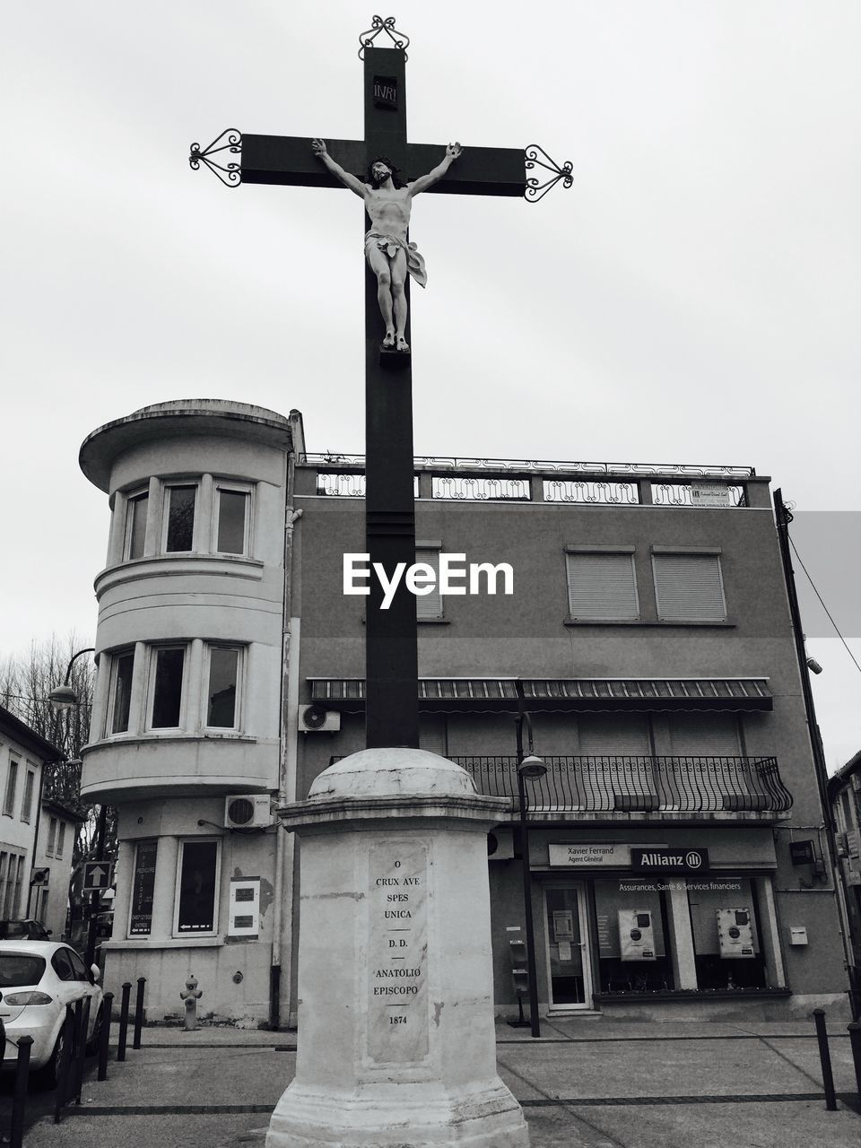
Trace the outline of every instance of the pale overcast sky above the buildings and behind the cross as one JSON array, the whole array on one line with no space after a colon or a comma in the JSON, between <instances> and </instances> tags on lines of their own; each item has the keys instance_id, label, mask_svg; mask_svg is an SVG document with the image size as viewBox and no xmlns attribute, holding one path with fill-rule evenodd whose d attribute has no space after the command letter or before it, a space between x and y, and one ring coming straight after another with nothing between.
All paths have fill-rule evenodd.
<instances>
[{"instance_id":1,"label":"pale overcast sky above the buildings and behind the cross","mask_svg":"<svg viewBox=\"0 0 861 1148\"><path fill-rule=\"evenodd\" d=\"M0 657L94 635L108 509L77 452L96 426L235 398L298 408L309 450L363 450L359 203L227 189L187 155L225 127L360 138L372 14L7 7ZM861 661L859 567L855 585L839 576L861 509L861 5L400 0L395 15L411 140L540 144L575 174L535 205L417 202L417 453L755 466L805 517L853 512L797 541ZM861 673L821 613L805 625L835 768L861 748Z\"/></svg>"}]
</instances>

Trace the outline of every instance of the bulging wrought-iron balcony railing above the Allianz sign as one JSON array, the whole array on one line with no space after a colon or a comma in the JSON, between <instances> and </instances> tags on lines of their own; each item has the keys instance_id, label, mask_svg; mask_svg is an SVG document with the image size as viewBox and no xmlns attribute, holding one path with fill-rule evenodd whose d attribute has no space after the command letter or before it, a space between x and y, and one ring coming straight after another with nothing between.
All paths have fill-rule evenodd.
<instances>
[{"instance_id":1,"label":"bulging wrought-iron balcony railing above the Allianz sign","mask_svg":"<svg viewBox=\"0 0 861 1148\"><path fill-rule=\"evenodd\" d=\"M480 793L517 797L517 758L452 758ZM535 813L785 813L792 794L776 758L542 757L544 777L529 778Z\"/></svg>"}]
</instances>

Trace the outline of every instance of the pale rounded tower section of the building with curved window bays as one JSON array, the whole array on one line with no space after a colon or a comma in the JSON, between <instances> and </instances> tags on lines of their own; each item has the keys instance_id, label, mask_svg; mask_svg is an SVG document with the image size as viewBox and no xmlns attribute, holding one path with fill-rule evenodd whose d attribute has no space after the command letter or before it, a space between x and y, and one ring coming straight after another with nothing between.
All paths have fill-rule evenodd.
<instances>
[{"instance_id":1,"label":"pale rounded tower section of the building with curved window bays","mask_svg":"<svg viewBox=\"0 0 861 1148\"><path fill-rule=\"evenodd\" d=\"M301 433L296 412L179 401L80 450L111 507L82 796L118 809L108 976L145 976L160 1018L180 1010L191 972L202 1011L258 1023L272 1008L286 925L270 806L285 785L285 515Z\"/></svg>"}]
</instances>

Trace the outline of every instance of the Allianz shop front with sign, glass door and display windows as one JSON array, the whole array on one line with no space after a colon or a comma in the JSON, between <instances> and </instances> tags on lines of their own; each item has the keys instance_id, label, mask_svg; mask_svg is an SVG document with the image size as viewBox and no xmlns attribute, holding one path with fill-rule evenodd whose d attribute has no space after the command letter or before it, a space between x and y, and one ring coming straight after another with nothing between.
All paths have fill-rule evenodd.
<instances>
[{"instance_id":1,"label":"Allianz shop front with sign, glass door and display windows","mask_svg":"<svg viewBox=\"0 0 861 1148\"><path fill-rule=\"evenodd\" d=\"M660 1004L673 1016L715 1001L746 1010L743 1001L790 995L770 830L620 836L530 833L538 994L549 1015L628 1015L631 1006L643 1016ZM499 871L496 887L502 881ZM510 903L512 915L513 895Z\"/></svg>"}]
</instances>

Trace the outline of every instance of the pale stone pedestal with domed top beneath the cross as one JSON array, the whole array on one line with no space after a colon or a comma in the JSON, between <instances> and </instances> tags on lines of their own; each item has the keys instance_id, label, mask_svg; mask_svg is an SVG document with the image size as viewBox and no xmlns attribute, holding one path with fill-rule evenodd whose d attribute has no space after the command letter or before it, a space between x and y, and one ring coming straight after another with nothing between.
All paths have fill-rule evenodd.
<instances>
[{"instance_id":1,"label":"pale stone pedestal with domed top beneath the cross","mask_svg":"<svg viewBox=\"0 0 861 1148\"><path fill-rule=\"evenodd\" d=\"M394 748L279 810L301 836L298 1050L266 1148L528 1148L496 1072L487 832L506 807Z\"/></svg>"}]
</instances>

